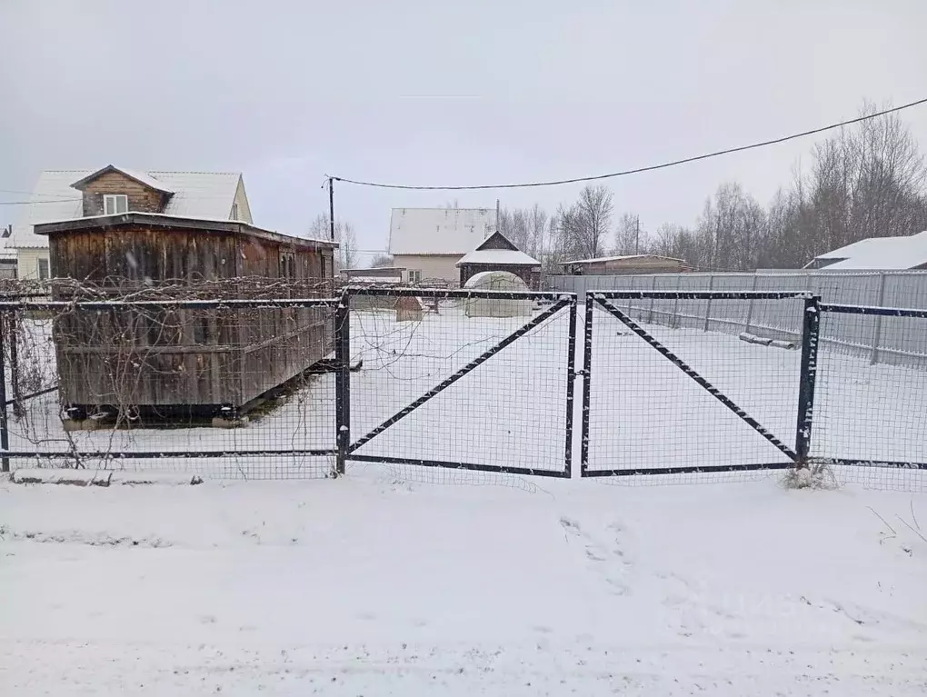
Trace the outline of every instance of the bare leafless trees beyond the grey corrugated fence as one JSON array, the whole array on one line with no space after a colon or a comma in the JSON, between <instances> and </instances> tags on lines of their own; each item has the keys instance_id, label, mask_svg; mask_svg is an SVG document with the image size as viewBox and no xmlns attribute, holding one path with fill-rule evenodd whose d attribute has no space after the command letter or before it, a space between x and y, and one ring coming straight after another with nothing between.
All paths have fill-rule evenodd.
<instances>
[{"instance_id":1,"label":"bare leafless trees beyond the grey corrugated fence","mask_svg":"<svg viewBox=\"0 0 927 697\"><path fill-rule=\"evenodd\" d=\"M862 113L876 110L866 104ZM741 184L721 184L691 227L643 231L632 212L614 220L611 190L590 185L552 214L538 205L502 209L499 228L551 271L565 260L636 253L702 270L800 268L866 237L927 229L927 166L897 114L841 130L814 146L809 160L766 207Z\"/></svg>"}]
</instances>

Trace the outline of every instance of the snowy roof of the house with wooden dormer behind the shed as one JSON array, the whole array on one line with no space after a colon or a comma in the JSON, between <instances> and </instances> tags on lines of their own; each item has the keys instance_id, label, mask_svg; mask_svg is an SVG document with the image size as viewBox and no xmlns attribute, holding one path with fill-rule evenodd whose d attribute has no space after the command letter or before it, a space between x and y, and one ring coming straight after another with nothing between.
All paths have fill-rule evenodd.
<instances>
[{"instance_id":1,"label":"snowy roof of the house with wooden dormer behind the shed","mask_svg":"<svg viewBox=\"0 0 927 697\"><path fill-rule=\"evenodd\" d=\"M19 220L13 224L10 247L47 248L48 238L35 234L40 222L67 221L83 216L81 192L71 188L98 170L46 170L35 184L30 202L21 207ZM121 170L137 179L141 172ZM184 218L229 220L240 172L148 171L146 176L158 180L160 190L172 191L164 215ZM166 188L165 188L166 187Z\"/></svg>"}]
</instances>

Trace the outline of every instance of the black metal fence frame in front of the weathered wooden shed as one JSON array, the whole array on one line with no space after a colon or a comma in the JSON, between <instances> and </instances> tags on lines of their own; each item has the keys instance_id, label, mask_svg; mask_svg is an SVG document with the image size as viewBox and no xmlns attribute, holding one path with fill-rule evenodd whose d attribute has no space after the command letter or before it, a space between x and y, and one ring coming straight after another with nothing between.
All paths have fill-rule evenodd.
<instances>
[{"instance_id":1,"label":"black metal fence frame in front of the weathered wooden shed","mask_svg":"<svg viewBox=\"0 0 927 697\"><path fill-rule=\"evenodd\" d=\"M335 308L337 311L342 304L341 298L268 298L268 299L196 299L196 300L79 300L66 302L62 300L47 301L0 301L0 316L10 312L41 311L64 312L68 310L109 310L113 307L178 310L218 310L243 309L260 310L262 308ZM4 323L0 321L0 376L6 375L4 365ZM337 329L337 328L336 328ZM0 469L9 471L11 459L48 459L48 460L74 460L78 463L83 460L162 460L162 459L199 459L239 457L284 457L301 455L304 457L336 457L337 448L327 449L225 449L225 450L9 450L9 422L6 412L6 379L0 378L0 451L2 461Z\"/></svg>"}]
</instances>

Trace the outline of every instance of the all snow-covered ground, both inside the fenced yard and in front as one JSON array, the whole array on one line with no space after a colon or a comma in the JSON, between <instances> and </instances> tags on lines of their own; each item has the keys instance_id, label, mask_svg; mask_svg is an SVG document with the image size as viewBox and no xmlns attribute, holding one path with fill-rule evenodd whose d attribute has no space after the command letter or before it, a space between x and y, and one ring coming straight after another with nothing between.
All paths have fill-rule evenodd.
<instances>
[{"instance_id":1,"label":"all snow-covered ground, both inside the fenced yard and in front","mask_svg":"<svg viewBox=\"0 0 927 697\"><path fill-rule=\"evenodd\" d=\"M562 310L540 324L358 454L563 471L567 320ZM467 319L450 306L421 323L355 313L352 438L526 321ZM614 318L597 311L593 327L590 469L785 462ZM797 351L647 328L794 444ZM918 371L822 351L816 450L923 462L925 387ZM12 423L12 447L59 450L73 437L87 450L330 448L334 416L332 375L230 431L65 434L49 395ZM616 487L603 485L712 477L350 463L334 480L246 482L321 476L332 463L121 464L207 480L0 481L0 694L927 691L923 496L790 491L769 473ZM838 479L923 490L921 479L901 481L919 473L855 472L864 476Z\"/></svg>"}]
</instances>

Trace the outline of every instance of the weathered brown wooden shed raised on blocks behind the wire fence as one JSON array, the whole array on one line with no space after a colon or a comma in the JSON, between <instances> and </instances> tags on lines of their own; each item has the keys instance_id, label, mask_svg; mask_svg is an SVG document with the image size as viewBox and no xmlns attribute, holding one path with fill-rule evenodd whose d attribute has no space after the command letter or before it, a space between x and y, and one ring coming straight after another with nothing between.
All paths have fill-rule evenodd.
<instances>
[{"instance_id":1,"label":"weathered brown wooden shed raised on blocks behind the wire fence","mask_svg":"<svg viewBox=\"0 0 927 697\"><path fill-rule=\"evenodd\" d=\"M157 191L139 196L153 209L164 203ZM158 299L331 297L334 242L136 212L132 197L125 212L35 225L47 235L52 276L64 279L54 282L54 299L119 300L130 291ZM247 410L328 356L334 322L321 307L115 304L59 314L52 336L60 399L73 419L214 416Z\"/></svg>"}]
</instances>

